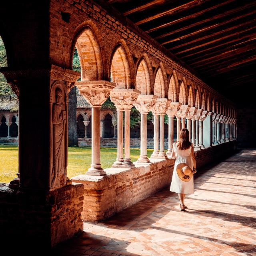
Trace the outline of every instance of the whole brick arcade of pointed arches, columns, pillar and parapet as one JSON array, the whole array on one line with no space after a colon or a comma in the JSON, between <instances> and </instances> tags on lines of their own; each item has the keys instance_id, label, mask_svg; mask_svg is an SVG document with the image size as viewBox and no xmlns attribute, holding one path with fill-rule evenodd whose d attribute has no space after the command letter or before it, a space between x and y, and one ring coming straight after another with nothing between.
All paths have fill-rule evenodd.
<instances>
[{"instance_id":1,"label":"whole brick arcade of pointed arches, columns, pillar and parapet","mask_svg":"<svg viewBox=\"0 0 256 256\"><path fill-rule=\"evenodd\" d=\"M0 117L1 136L17 135L19 124L19 172L10 184L0 185L0 225L5 234L31 240L36 234L36 243L54 246L82 232L82 220L112 216L170 184L172 143L181 128L190 132L197 167L230 154L236 148L237 110L135 25L91 1L49 2L50 7L48 1L40 7L19 2L3 7L15 15L1 17L8 67L0 71L20 106L18 117ZM26 15L30 18L23 20ZM81 74L71 70L75 47ZM79 136L91 137L92 160L89 170L69 179L67 110L74 85L91 106L91 113L78 113L77 120ZM109 96L115 115L100 112ZM133 163L134 106L140 112L140 157ZM154 152L148 156L150 111ZM32 126L38 129L28 132ZM117 137L117 158L107 170L100 164L100 131Z\"/></svg>"}]
</instances>

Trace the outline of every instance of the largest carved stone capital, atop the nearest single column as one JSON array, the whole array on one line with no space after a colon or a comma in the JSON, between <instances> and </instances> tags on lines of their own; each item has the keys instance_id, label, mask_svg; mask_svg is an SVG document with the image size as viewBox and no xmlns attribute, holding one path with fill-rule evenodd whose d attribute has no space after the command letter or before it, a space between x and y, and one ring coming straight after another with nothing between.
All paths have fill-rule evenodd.
<instances>
[{"instance_id":1,"label":"largest carved stone capital, atop the nearest single column","mask_svg":"<svg viewBox=\"0 0 256 256\"><path fill-rule=\"evenodd\" d=\"M100 107L116 87L115 83L105 80L81 81L75 85L91 107Z\"/></svg>"}]
</instances>

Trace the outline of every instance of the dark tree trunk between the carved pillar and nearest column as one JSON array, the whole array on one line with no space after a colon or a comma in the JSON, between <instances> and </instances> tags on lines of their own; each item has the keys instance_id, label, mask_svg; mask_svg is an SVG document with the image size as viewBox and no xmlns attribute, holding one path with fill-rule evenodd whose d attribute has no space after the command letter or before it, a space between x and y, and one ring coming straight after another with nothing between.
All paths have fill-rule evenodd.
<instances>
[{"instance_id":1,"label":"dark tree trunk between the carved pillar and nearest column","mask_svg":"<svg viewBox=\"0 0 256 256\"><path fill-rule=\"evenodd\" d=\"M68 93L68 146L77 146L76 86Z\"/></svg>"}]
</instances>

